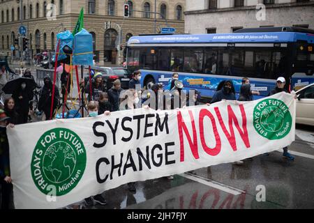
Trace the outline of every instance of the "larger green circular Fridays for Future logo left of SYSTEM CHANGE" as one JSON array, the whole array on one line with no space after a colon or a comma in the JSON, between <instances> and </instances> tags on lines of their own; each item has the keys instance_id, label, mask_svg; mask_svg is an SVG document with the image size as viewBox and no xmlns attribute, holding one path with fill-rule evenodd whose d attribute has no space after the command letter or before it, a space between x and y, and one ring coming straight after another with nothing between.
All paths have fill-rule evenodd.
<instances>
[{"instance_id":1,"label":"larger green circular Fridays for Future logo left of SYSTEM CHANGE","mask_svg":"<svg viewBox=\"0 0 314 223\"><path fill-rule=\"evenodd\" d=\"M54 128L37 141L31 160L31 176L44 194L48 194L54 186L56 196L62 196L80 181L86 161L80 137L66 128Z\"/></svg>"}]
</instances>

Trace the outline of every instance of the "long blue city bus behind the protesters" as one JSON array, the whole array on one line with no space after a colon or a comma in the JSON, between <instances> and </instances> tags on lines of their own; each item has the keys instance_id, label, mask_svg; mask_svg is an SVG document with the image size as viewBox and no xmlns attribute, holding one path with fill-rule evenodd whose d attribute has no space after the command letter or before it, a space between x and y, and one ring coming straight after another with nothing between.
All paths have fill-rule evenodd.
<instances>
[{"instance_id":1,"label":"long blue city bus behind the protesters","mask_svg":"<svg viewBox=\"0 0 314 223\"><path fill-rule=\"evenodd\" d=\"M240 29L223 34L143 35L128 40L126 63L141 70L142 87L162 82L169 86L179 74L184 89L197 89L211 98L218 84L232 79L239 93L248 77L262 98L286 79L288 90L314 82L314 31L294 27ZM238 95L237 95L238 96Z\"/></svg>"}]
</instances>

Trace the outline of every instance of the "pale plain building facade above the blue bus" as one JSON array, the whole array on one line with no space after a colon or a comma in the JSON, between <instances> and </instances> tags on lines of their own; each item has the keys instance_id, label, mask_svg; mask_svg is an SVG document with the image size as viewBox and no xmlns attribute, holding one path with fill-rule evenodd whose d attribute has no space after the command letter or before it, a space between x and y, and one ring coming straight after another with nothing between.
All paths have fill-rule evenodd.
<instances>
[{"instance_id":1,"label":"pale plain building facade above the blue bus","mask_svg":"<svg viewBox=\"0 0 314 223\"><path fill-rule=\"evenodd\" d=\"M241 28L314 29L314 0L186 0L186 33L231 33Z\"/></svg>"}]
</instances>

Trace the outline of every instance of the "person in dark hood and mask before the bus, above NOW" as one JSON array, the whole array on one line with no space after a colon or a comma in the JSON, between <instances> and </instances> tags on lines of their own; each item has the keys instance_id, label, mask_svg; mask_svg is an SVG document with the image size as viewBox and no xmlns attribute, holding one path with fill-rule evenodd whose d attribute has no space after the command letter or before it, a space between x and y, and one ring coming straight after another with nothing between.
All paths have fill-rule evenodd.
<instances>
[{"instance_id":1,"label":"person in dark hood and mask before the bus, above NOW","mask_svg":"<svg viewBox=\"0 0 314 223\"><path fill-rule=\"evenodd\" d=\"M223 87L222 89L220 89L220 87L217 88L218 91L216 91L213 98L211 99L211 104L215 102L220 102L221 100L236 100L232 80L220 82L218 86Z\"/></svg>"}]
</instances>

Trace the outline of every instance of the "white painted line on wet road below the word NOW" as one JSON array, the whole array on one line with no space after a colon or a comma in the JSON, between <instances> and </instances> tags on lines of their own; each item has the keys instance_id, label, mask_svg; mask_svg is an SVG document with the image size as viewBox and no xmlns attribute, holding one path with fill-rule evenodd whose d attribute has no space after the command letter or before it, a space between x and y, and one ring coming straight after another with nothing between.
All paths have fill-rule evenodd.
<instances>
[{"instance_id":1,"label":"white painted line on wet road below the word NOW","mask_svg":"<svg viewBox=\"0 0 314 223\"><path fill-rule=\"evenodd\" d=\"M202 176L197 176L195 174L179 174L179 176L183 176L185 178L188 178L190 180L194 180L198 183L202 183L204 185L207 185L209 187L214 187L218 190L222 190L224 192L227 192L229 194L233 194L233 195L239 195L239 194L244 194L246 193L244 190L239 190L235 187L230 187L228 185L224 185L223 183L219 183L219 182L216 182L214 180L210 180L208 178L204 178Z\"/></svg>"}]
</instances>

